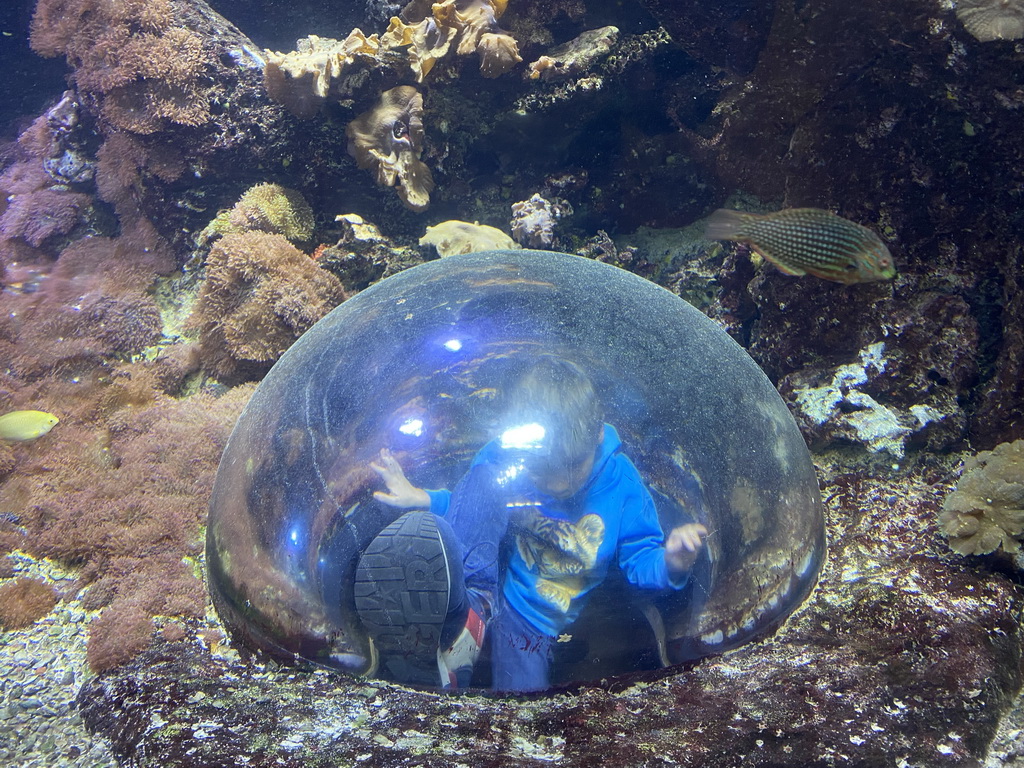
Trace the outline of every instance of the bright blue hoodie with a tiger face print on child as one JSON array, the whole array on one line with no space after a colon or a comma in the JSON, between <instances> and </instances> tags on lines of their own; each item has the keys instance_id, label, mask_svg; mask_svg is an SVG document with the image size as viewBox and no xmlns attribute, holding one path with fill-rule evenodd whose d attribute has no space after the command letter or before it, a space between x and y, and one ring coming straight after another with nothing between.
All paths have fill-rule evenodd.
<instances>
[{"instance_id":1,"label":"bright blue hoodie with a tiger face print on child","mask_svg":"<svg viewBox=\"0 0 1024 768\"><path fill-rule=\"evenodd\" d=\"M568 499L542 493L521 470L514 454L493 440L455 492L428 492L430 511L449 520L464 548L471 592L497 591L506 532L512 536L505 603L540 634L559 635L571 625L612 561L637 587L686 585L688 574L669 574L654 502L610 424L590 476Z\"/></svg>"}]
</instances>

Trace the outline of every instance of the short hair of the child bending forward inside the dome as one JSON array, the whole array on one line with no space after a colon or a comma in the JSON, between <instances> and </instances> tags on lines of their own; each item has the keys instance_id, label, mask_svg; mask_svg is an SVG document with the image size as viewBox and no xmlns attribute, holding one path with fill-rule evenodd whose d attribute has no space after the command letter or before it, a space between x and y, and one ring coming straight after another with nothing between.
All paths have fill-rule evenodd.
<instances>
[{"instance_id":1,"label":"short hair of the child bending forward inside the dome","mask_svg":"<svg viewBox=\"0 0 1024 768\"><path fill-rule=\"evenodd\" d=\"M545 354L512 388L507 420L543 425L545 437L530 453L549 465L570 465L594 453L603 415L583 369Z\"/></svg>"}]
</instances>

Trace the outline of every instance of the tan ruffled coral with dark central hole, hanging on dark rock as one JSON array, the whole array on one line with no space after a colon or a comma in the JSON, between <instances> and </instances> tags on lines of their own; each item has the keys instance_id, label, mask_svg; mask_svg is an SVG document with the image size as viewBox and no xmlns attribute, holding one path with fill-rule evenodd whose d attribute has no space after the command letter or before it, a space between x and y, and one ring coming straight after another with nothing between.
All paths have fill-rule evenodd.
<instances>
[{"instance_id":1,"label":"tan ruffled coral with dark central hole, hanging on dark rock","mask_svg":"<svg viewBox=\"0 0 1024 768\"><path fill-rule=\"evenodd\" d=\"M434 181L420 160L423 153L423 96L399 85L384 91L377 104L348 124L348 154L378 184L397 184L408 208L422 211L430 205Z\"/></svg>"}]
</instances>

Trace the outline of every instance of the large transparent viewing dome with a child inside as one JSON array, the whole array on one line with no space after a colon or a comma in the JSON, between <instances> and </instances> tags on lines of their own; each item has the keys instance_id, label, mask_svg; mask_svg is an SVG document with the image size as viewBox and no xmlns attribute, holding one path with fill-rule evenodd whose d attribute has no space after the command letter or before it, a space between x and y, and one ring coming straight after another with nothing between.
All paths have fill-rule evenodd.
<instances>
[{"instance_id":1,"label":"large transparent viewing dome with a child inside","mask_svg":"<svg viewBox=\"0 0 1024 768\"><path fill-rule=\"evenodd\" d=\"M538 367L583 383L596 432L548 424L557 414L543 408L547 395L523 398ZM574 408L571 387L553 381L563 410ZM544 469L572 451L586 462L572 465L581 474L562 503ZM612 459L620 474L608 480L600 473ZM395 506L394 468L430 504ZM217 473L207 535L216 609L244 645L274 657L430 685L430 674L407 675L394 658L403 642L432 644L439 665L451 622L395 627L394 610L367 603L394 564L374 560L393 552L381 542L410 541L400 537L414 519L417 536L440 541L450 591L403 583L404 607L412 594L451 618L469 587L486 630L460 685L502 689L516 687L495 678L495 638L510 616L551 638L551 685L658 669L772 629L808 594L824 553L807 449L746 353L654 284L551 252L417 266L348 300L288 350ZM689 549L670 543L682 526L702 530ZM547 549L537 544L545 537ZM497 553L483 607L471 584L481 542ZM583 554L568 562L573 549ZM442 682L455 682L443 668Z\"/></svg>"}]
</instances>

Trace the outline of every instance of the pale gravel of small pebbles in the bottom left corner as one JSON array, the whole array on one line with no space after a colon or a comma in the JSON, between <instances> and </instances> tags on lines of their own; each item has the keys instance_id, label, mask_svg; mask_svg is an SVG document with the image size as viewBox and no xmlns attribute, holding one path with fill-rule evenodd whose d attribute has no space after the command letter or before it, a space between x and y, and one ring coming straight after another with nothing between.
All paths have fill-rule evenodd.
<instances>
[{"instance_id":1,"label":"pale gravel of small pebbles in the bottom left corner","mask_svg":"<svg viewBox=\"0 0 1024 768\"><path fill-rule=\"evenodd\" d=\"M13 578L51 584L74 578L20 553L11 559ZM78 684L91 674L85 660L89 618L81 605L66 600L32 627L0 634L0 765L117 768L105 739L86 731L73 706Z\"/></svg>"}]
</instances>

